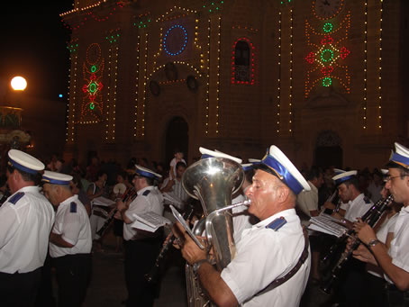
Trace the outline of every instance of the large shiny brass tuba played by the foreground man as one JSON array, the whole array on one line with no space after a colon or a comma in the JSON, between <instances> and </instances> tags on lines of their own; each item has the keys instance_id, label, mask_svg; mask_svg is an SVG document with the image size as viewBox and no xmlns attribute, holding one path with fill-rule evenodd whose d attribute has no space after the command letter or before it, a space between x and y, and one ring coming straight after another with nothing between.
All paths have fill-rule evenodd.
<instances>
[{"instance_id":1,"label":"large shiny brass tuba played by the foreground man","mask_svg":"<svg viewBox=\"0 0 409 307\"><path fill-rule=\"evenodd\" d=\"M204 211L204 218L195 225L193 232L195 235L202 235L206 230L219 271L232 261L236 253L232 227L232 194L240 189L243 181L241 164L230 158L201 159L187 167L182 176L186 193L198 199ZM187 264L186 288L189 307L213 306L202 292L192 267Z\"/></svg>"}]
</instances>

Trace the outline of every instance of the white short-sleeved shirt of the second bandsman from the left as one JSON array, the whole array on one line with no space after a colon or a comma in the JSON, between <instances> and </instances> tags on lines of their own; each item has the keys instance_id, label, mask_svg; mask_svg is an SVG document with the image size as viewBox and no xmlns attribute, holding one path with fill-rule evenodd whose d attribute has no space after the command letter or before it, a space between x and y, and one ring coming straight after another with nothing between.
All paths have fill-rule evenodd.
<instances>
[{"instance_id":1,"label":"white short-sleeved shirt of the second bandsman from the left","mask_svg":"<svg viewBox=\"0 0 409 307\"><path fill-rule=\"evenodd\" d=\"M75 254L89 254L92 248L91 226L86 208L78 195L59 203L52 232L60 234L72 248L60 248L50 242L50 256L62 257Z\"/></svg>"}]
</instances>

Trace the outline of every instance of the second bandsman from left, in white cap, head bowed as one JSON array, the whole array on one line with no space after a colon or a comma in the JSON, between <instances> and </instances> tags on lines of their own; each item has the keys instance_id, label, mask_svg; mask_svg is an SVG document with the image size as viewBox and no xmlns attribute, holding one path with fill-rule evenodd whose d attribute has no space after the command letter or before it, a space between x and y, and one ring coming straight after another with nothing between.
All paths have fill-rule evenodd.
<instances>
[{"instance_id":1,"label":"second bandsman from left, in white cap, head bowed","mask_svg":"<svg viewBox=\"0 0 409 307\"><path fill-rule=\"evenodd\" d=\"M72 176L45 171L43 191L57 207L50 233L50 257L56 267L59 306L80 307L91 272L91 226L84 204L69 185Z\"/></svg>"}]
</instances>

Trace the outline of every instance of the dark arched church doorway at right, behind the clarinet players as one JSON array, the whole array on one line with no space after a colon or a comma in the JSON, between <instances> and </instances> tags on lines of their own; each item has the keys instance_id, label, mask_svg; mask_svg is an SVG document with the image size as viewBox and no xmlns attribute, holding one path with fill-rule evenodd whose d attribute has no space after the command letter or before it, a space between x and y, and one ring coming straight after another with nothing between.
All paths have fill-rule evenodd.
<instances>
[{"instance_id":1,"label":"dark arched church doorway at right, behind the clarinet players","mask_svg":"<svg viewBox=\"0 0 409 307\"><path fill-rule=\"evenodd\" d=\"M316 140L314 165L317 167L342 168L341 137L334 131L321 132Z\"/></svg>"}]
</instances>

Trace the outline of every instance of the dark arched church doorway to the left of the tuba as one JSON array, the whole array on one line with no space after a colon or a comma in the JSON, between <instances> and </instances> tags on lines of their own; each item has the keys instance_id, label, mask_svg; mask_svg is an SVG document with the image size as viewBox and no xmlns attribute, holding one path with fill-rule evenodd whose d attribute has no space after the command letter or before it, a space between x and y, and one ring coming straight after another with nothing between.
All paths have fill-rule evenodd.
<instances>
[{"instance_id":1,"label":"dark arched church doorway to the left of the tuba","mask_svg":"<svg viewBox=\"0 0 409 307\"><path fill-rule=\"evenodd\" d=\"M185 154L187 162L187 149L189 144L187 122L180 116L174 117L168 122L168 129L165 134L165 163L170 163L174 158L174 150L180 149Z\"/></svg>"}]
</instances>

